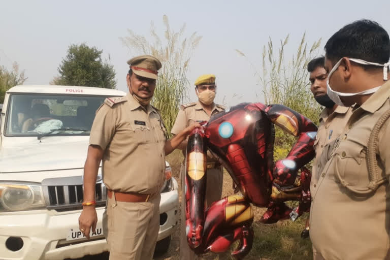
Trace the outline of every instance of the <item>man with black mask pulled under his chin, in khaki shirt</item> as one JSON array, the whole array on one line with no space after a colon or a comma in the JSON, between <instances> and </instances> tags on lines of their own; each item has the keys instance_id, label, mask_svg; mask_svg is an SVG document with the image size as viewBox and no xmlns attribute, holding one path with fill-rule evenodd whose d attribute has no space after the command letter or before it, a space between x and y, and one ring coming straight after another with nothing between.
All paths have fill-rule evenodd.
<instances>
[{"instance_id":1,"label":"man with black mask pulled under his chin, in khaki shirt","mask_svg":"<svg viewBox=\"0 0 390 260\"><path fill-rule=\"evenodd\" d=\"M307 64L307 70L310 73L310 90L317 103L324 107L319 115L319 127L314 141L315 158L310 182L311 187L316 185L318 181L319 157L321 156L323 147L342 134L344 125L352 114L351 108L338 106L329 98L327 94L328 73L324 68L324 61L325 58L322 56L312 59ZM306 229L302 233L302 237L308 236L309 219L306 222Z\"/></svg>"}]
</instances>

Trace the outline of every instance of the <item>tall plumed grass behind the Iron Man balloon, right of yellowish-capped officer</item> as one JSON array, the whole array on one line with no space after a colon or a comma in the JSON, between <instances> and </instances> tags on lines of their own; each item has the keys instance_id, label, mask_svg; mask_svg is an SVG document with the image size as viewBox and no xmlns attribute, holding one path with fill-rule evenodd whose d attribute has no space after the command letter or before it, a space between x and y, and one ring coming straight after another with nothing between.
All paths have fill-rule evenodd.
<instances>
[{"instance_id":1,"label":"tall plumed grass behind the Iron Man balloon, right of yellowish-capped officer","mask_svg":"<svg viewBox=\"0 0 390 260\"><path fill-rule=\"evenodd\" d=\"M308 45L306 33L304 33L291 58L285 56L288 41L289 35L284 40L280 40L277 50L271 38L267 45L263 46L262 69L255 68L255 75L258 76L257 83L262 88L266 104L282 104L318 124L321 108L310 91L307 63L317 55L321 39ZM308 46L311 46L310 49ZM243 52L236 51L241 56L245 56ZM276 127L275 135L274 155L275 159L280 159L286 156L295 138L286 135L278 127Z\"/></svg>"}]
</instances>

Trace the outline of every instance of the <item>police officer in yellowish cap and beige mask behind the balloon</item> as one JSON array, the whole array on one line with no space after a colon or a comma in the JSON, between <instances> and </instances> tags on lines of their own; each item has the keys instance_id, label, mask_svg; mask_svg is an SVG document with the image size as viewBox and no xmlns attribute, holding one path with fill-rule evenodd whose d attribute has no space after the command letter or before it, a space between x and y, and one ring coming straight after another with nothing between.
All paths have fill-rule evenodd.
<instances>
[{"instance_id":1,"label":"police officer in yellowish cap and beige mask behind the balloon","mask_svg":"<svg viewBox=\"0 0 390 260\"><path fill-rule=\"evenodd\" d=\"M177 114L175 124L171 133L176 135L185 127L197 121L208 121L210 117L222 110L224 107L214 103L217 86L215 84L215 75L207 74L200 76L195 81L195 92L198 96L198 102L188 105L182 105ZM185 152L187 141L182 142L179 148ZM221 199L223 169L208 153L207 158L207 185L206 185L206 204L210 206L213 202ZM181 165L181 183L184 187L185 169ZM194 254L189 249L185 234L185 201L182 200L181 206L181 238L180 238L180 259L193 259Z\"/></svg>"}]
</instances>

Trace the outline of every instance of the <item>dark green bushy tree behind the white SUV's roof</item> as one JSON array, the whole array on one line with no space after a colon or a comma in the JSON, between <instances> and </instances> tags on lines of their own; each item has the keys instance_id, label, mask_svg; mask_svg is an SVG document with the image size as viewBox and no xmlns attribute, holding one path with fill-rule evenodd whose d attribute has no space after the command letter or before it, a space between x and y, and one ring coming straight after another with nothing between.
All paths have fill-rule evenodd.
<instances>
[{"instance_id":1,"label":"dark green bushy tree behind the white SUV's roof","mask_svg":"<svg viewBox=\"0 0 390 260\"><path fill-rule=\"evenodd\" d=\"M116 88L114 67L102 61L102 53L85 43L70 45L51 84Z\"/></svg>"}]
</instances>

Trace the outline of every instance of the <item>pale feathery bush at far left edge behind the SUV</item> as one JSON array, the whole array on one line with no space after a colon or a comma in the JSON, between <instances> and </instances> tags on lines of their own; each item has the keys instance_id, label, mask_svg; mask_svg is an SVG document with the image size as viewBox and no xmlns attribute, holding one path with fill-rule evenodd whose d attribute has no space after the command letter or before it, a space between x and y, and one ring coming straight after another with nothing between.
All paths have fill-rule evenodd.
<instances>
[{"instance_id":1,"label":"pale feathery bush at far left edge behind the SUV","mask_svg":"<svg viewBox=\"0 0 390 260\"><path fill-rule=\"evenodd\" d=\"M24 71L19 72L19 65L14 62L12 71L8 71L6 67L0 67L0 104L4 102L6 91L13 86L22 85L27 78L24 77Z\"/></svg>"}]
</instances>

